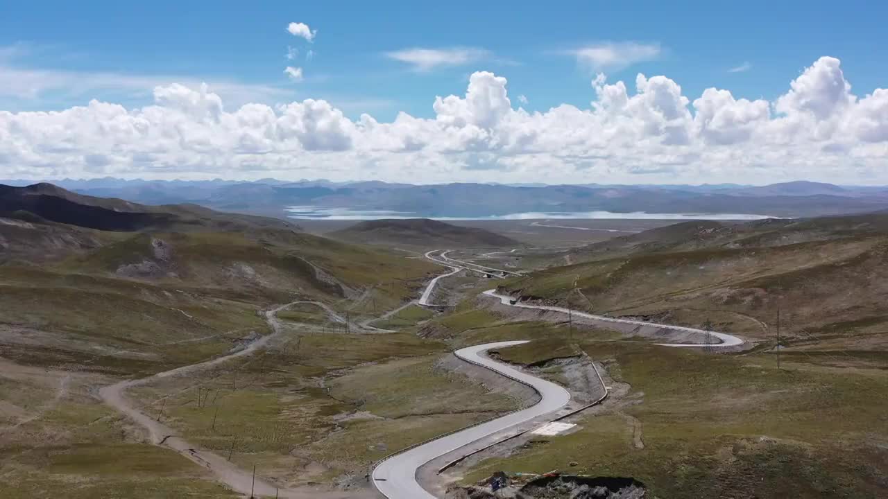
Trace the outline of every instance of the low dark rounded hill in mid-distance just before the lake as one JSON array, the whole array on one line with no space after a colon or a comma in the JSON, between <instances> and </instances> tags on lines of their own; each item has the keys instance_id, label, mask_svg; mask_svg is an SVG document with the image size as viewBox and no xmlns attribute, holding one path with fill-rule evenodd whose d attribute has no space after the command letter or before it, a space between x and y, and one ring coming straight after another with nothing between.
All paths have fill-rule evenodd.
<instances>
[{"instance_id":1,"label":"low dark rounded hill in mid-distance just before the lake","mask_svg":"<svg viewBox=\"0 0 888 499\"><path fill-rule=\"evenodd\" d=\"M487 229L452 226L428 218L367 220L329 234L363 244L400 244L421 248L505 247L521 243Z\"/></svg>"}]
</instances>

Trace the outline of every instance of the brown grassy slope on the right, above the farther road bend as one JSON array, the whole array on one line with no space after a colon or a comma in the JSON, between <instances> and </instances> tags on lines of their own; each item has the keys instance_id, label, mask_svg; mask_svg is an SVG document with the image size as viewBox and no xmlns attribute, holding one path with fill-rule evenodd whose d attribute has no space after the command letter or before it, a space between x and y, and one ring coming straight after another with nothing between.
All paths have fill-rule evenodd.
<instances>
[{"instance_id":1,"label":"brown grassy slope on the right, above the farther road bend","mask_svg":"<svg viewBox=\"0 0 888 499\"><path fill-rule=\"evenodd\" d=\"M751 338L773 339L780 309L783 345L881 350L888 348L884 220L815 218L741 231L681 224L679 230L690 229L686 232L696 237L660 242L645 234L632 239L637 242L632 246L625 238L622 248L612 246L617 249L610 257L601 252L591 261L551 267L505 287L562 305L569 300L594 313L694 327L712 321Z\"/></svg>"}]
</instances>

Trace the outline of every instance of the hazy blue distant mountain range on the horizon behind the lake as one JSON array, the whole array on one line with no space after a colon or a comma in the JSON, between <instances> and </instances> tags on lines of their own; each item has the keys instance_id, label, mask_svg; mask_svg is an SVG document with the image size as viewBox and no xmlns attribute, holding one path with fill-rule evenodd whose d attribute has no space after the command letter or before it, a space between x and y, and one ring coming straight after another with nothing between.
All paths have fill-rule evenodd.
<instances>
[{"instance_id":1,"label":"hazy blue distant mountain range on the horizon behind the lake","mask_svg":"<svg viewBox=\"0 0 888 499\"><path fill-rule=\"evenodd\" d=\"M27 185L21 180L0 181ZM385 182L64 179L78 194L144 204L195 203L216 210L316 218L349 213L424 218L497 217L513 213L610 211L628 213L754 214L812 217L888 209L888 186L836 186L797 181L769 186L503 185L414 186ZM366 215L365 215L366 216Z\"/></svg>"}]
</instances>

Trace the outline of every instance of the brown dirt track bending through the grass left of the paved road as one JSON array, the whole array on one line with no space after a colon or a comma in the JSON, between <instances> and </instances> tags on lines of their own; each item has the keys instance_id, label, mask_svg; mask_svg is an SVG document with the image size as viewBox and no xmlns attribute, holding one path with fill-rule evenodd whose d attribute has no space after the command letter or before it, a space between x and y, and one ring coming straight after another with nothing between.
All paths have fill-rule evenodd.
<instances>
[{"instance_id":1,"label":"brown dirt track bending through the grass left of the paved road","mask_svg":"<svg viewBox=\"0 0 888 499\"><path fill-rule=\"evenodd\" d=\"M309 488L281 488L279 490L271 483L268 483L262 479L256 479L254 485L252 471L246 471L238 468L233 463L229 463L221 455L195 448L186 440L178 437L176 435L176 432L169 426L166 426L165 424L156 421L151 416L147 416L145 413L139 411L139 409L135 407L132 401L126 397L126 390L133 386L147 384L154 381L155 379L160 379L164 377L183 376L197 370L209 368L222 362L226 362L237 357L242 357L244 355L250 355L250 353L256 352L259 348L267 345L268 342L272 340L272 338L280 336L282 330L281 321L278 320L276 313L280 312L290 305L295 305L296 303L298 302L281 305L273 310L267 311L266 321L268 321L268 325L272 328L273 333L266 337L258 338L257 340L250 343L250 345L247 345L246 348L238 352L231 353L224 357L218 357L216 359L192 364L190 366L170 369L169 371L164 371L162 373L155 374L154 376L148 376L142 379L122 381L117 384L111 384L101 388L99 390L99 395L101 396L102 400L104 400L105 403L107 403L109 406L117 409L124 415L129 416L133 421L145 427L151 435L151 442L153 444L165 448L171 448L179 454L184 455L188 459L194 461L194 463L198 463L206 467L207 469L212 471L214 475L216 475L216 478L220 482L226 484L228 487L231 487L232 489L234 489L235 492L239 494L250 495L250 492L252 492L255 496L274 497L275 495L277 495L279 497L289 497L291 499L363 499L374 497L375 495L369 491L345 493L313 490Z\"/></svg>"}]
</instances>

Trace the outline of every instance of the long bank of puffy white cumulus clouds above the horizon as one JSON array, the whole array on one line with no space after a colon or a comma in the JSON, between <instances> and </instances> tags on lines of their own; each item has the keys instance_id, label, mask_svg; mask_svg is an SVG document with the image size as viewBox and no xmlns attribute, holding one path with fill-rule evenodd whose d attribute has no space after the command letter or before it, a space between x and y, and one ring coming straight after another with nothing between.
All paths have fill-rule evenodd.
<instances>
[{"instance_id":1,"label":"long bank of puffy white cumulus clouds above the horizon","mask_svg":"<svg viewBox=\"0 0 888 499\"><path fill-rule=\"evenodd\" d=\"M855 95L838 59L814 61L773 102L715 88L690 99L663 75L631 88L598 75L589 107L527 112L506 78L480 71L464 95L435 98L433 117L381 123L315 99L229 109L205 84L173 83L147 107L0 111L0 174L888 183L888 90Z\"/></svg>"}]
</instances>

